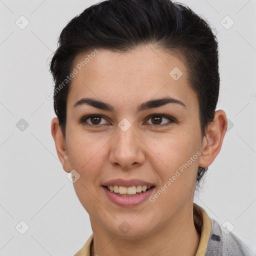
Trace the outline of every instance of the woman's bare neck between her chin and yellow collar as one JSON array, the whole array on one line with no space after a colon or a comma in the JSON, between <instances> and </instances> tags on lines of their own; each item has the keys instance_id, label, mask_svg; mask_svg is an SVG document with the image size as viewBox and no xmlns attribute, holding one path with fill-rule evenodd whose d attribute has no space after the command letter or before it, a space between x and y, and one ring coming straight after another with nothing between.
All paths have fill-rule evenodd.
<instances>
[{"instance_id":1,"label":"woman's bare neck between her chin and yellow collar","mask_svg":"<svg viewBox=\"0 0 256 256\"><path fill-rule=\"evenodd\" d=\"M171 218L158 229L143 236L115 236L104 232L102 227L92 222L93 242L90 256L94 255L169 255L192 256L196 254L200 235L197 233L193 212L189 210L178 218Z\"/></svg>"}]
</instances>

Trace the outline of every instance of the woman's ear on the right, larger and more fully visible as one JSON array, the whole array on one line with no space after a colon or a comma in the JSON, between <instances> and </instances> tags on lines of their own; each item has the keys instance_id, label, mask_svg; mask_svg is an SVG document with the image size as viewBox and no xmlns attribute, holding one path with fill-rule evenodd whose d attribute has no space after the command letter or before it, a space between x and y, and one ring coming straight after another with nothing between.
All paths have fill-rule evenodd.
<instances>
[{"instance_id":1,"label":"woman's ear on the right, larger and more fully visible","mask_svg":"<svg viewBox=\"0 0 256 256\"><path fill-rule=\"evenodd\" d=\"M215 111L214 120L206 128L201 144L200 167L208 167L220 151L227 129L226 114L223 110Z\"/></svg>"}]
</instances>

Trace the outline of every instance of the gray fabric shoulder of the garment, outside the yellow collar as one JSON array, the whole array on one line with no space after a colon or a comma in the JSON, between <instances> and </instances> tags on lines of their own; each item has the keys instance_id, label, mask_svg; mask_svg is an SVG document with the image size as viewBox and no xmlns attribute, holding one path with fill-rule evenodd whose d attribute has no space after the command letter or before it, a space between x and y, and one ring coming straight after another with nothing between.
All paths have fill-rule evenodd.
<instances>
[{"instance_id":1,"label":"gray fabric shoulder of the garment, outside the yellow collar","mask_svg":"<svg viewBox=\"0 0 256 256\"><path fill-rule=\"evenodd\" d=\"M229 231L223 231L212 218L205 256L255 256L249 245Z\"/></svg>"}]
</instances>

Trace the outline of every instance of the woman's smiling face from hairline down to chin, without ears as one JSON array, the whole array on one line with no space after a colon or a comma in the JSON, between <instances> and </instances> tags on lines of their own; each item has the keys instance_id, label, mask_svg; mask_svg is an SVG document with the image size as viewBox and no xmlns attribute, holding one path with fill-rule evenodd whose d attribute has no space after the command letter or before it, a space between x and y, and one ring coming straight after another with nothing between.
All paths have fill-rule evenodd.
<instances>
[{"instance_id":1,"label":"woman's smiling face from hairline down to chin, without ears","mask_svg":"<svg viewBox=\"0 0 256 256\"><path fill-rule=\"evenodd\" d=\"M88 54L86 65L79 65ZM73 62L78 72L67 97L63 166L80 175L73 185L93 231L149 235L191 213L202 146L196 94L184 63L153 45L125 53L98 49L92 55L79 54ZM145 103L161 98L172 100ZM115 189L124 195L104 185L120 185ZM138 191L139 185L153 187L125 196L126 187L134 193L134 185Z\"/></svg>"}]
</instances>

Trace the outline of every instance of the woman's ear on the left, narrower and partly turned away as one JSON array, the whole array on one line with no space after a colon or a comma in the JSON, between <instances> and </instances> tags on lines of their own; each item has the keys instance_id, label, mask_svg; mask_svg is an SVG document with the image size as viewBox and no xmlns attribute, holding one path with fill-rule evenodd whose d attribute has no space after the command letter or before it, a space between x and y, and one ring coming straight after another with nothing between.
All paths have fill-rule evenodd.
<instances>
[{"instance_id":1,"label":"woman's ear on the left, narrower and partly turned away","mask_svg":"<svg viewBox=\"0 0 256 256\"><path fill-rule=\"evenodd\" d=\"M58 159L62 163L64 171L70 172L68 155L67 155L66 145L65 145L65 138L59 126L57 117L54 117L51 120L51 135L55 142Z\"/></svg>"}]
</instances>

